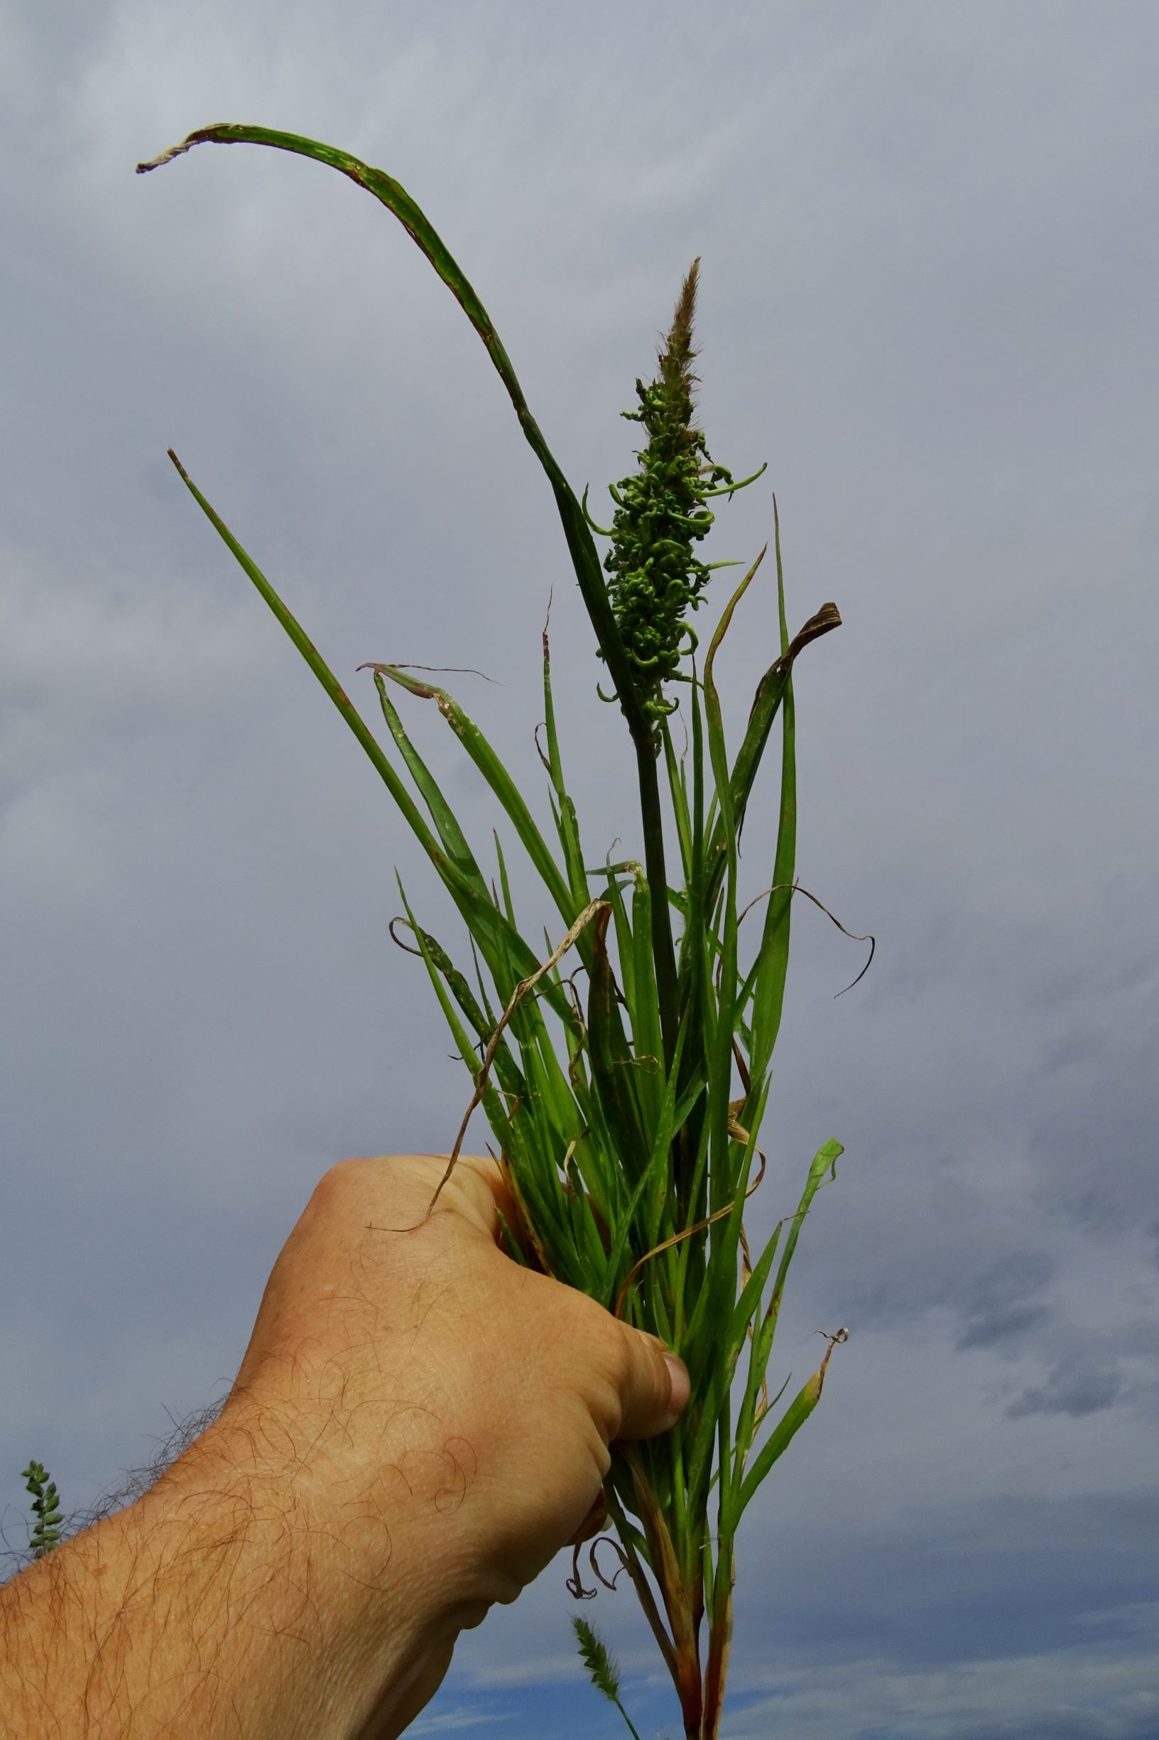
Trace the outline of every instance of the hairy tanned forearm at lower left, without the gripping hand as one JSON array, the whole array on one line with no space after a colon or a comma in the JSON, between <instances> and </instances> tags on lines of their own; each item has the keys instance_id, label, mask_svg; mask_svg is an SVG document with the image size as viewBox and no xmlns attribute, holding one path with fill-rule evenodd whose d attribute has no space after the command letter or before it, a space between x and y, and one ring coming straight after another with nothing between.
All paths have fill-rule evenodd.
<instances>
[{"instance_id":1,"label":"hairy tanned forearm at lower left, without the gripping hand","mask_svg":"<svg viewBox=\"0 0 1159 1740\"><path fill-rule=\"evenodd\" d=\"M367 1618L303 1493L238 1472L211 1430L137 1503L0 1589L3 1733L390 1740L456 1627L388 1589Z\"/></svg>"}]
</instances>

